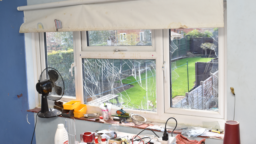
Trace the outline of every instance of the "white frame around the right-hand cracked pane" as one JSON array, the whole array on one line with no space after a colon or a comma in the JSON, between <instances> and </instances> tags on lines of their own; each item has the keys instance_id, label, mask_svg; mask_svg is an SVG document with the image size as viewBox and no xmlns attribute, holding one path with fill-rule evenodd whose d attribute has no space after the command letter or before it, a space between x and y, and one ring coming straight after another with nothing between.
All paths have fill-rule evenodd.
<instances>
[{"instance_id":1,"label":"white frame around the right-hand cracked pane","mask_svg":"<svg viewBox=\"0 0 256 144\"><path fill-rule=\"evenodd\" d=\"M164 30L166 31L166 30ZM169 32L164 32L165 37L169 36ZM164 94L164 109L165 113L171 113L171 114L183 114L183 115L193 115L193 116L198 116L198 117L207 117L207 118L218 118L218 119L224 119L224 73L225 73L225 47L224 47L224 28L219 28L218 32L218 63L219 63L219 112L213 112L213 111L208 111L208 110L195 110L195 109L185 109L185 108L175 108L171 107L171 96L170 96L170 75L167 75L167 81L165 81L165 94ZM169 46L169 43L164 44L164 57L169 57L170 51L167 49ZM170 63L170 59L164 59L166 63ZM166 65L166 69L170 69L170 65ZM170 73L170 70L167 71Z\"/></svg>"}]
</instances>

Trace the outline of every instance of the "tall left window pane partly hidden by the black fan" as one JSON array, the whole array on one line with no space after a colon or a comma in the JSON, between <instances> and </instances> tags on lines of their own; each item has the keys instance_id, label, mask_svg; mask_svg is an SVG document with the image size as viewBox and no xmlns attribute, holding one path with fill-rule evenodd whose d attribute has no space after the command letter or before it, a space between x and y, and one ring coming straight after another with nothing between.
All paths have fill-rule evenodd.
<instances>
[{"instance_id":1,"label":"tall left window pane partly hidden by the black fan","mask_svg":"<svg viewBox=\"0 0 256 144\"><path fill-rule=\"evenodd\" d=\"M64 96L76 96L75 77L70 66L74 62L73 32L46 32L46 67L53 67L63 78Z\"/></svg>"}]
</instances>

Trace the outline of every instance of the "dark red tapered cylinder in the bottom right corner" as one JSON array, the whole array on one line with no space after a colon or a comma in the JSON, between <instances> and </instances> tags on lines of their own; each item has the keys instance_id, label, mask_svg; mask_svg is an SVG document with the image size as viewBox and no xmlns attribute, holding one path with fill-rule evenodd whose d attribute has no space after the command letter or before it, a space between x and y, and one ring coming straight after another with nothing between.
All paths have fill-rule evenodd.
<instances>
[{"instance_id":1,"label":"dark red tapered cylinder in the bottom right corner","mask_svg":"<svg viewBox=\"0 0 256 144\"><path fill-rule=\"evenodd\" d=\"M225 122L225 133L223 144L240 144L240 129L239 122Z\"/></svg>"}]
</instances>

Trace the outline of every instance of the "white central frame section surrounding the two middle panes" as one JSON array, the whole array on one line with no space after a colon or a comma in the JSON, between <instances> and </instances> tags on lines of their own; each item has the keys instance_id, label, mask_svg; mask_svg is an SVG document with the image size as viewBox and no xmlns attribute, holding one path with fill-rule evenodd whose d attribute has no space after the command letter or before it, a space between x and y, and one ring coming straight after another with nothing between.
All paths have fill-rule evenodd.
<instances>
[{"instance_id":1,"label":"white central frame section surrounding the two middle panes","mask_svg":"<svg viewBox=\"0 0 256 144\"><path fill-rule=\"evenodd\" d=\"M79 32L75 32L78 33ZM134 49L136 48L137 51L119 51L119 52L113 52L112 47L108 47L108 46L102 46L103 48L105 48L105 51L103 52L99 52L99 51L83 51L83 50L88 50L89 48L87 47L91 47L91 46L87 46L87 35L86 32L81 32L81 37L82 37L82 47L76 47L77 49L77 69L80 69L80 81L78 84L78 89L79 93L83 96L83 74L82 74L82 58L110 58L110 59L155 59L156 60L156 79L159 79L159 81L157 81L157 95L163 95L163 79L161 77L163 77L163 71L161 69L162 64L163 64L163 30L154 30L154 40L157 42L154 42L154 44L152 43L152 46L150 46L149 48L152 47L157 47L155 49L155 51L145 51L145 47L148 46L129 46L128 48ZM73 35L73 38L74 35ZM115 46L117 48L123 48L125 46ZM138 51L138 49L140 51ZM144 50L144 51L143 51ZM79 60L78 60L79 59ZM77 82L77 80L76 80ZM77 90L76 90L77 92ZM163 97L157 97L157 101L161 101ZM84 102L84 99L81 101ZM118 110L120 108L118 107L113 107L111 109L112 113L115 113L116 110ZM101 112L101 109L99 108L99 106L95 106L95 105L90 105L87 104L87 111L88 112ZM128 113L131 112L136 112L137 114L147 114L147 115L153 115L158 116L158 114L161 113L161 106L157 105L157 112L150 112L150 111L141 111L141 110L132 110L132 109L126 109L125 110ZM150 119L150 118L149 118ZM154 119L152 119L154 120Z\"/></svg>"}]
</instances>

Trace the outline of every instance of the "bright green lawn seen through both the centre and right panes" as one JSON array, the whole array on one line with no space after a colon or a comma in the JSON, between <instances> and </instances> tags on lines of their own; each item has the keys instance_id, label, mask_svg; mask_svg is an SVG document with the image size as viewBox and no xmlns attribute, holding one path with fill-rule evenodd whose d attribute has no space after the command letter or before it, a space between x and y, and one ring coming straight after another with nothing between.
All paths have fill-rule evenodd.
<instances>
[{"instance_id":1,"label":"bright green lawn seen through both the centre and right panes","mask_svg":"<svg viewBox=\"0 0 256 144\"><path fill-rule=\"evenodd\" d=\"M176 61L176 65L181 66L183 64L186 64L188 61L188 75L187 75L187 65L178 67L175 69L175 72L178 73L179 77L175 80L173 83L173 97L175 96L185 96L185 93L188 92L188 77L189 77L189 89L191 89L195 82L195 62L209 62L212 58L201 58L201 57L192 57L192 58L184 58L181 60ZM145 105L147 105L146 100L146 93L148 93L148 100L151 100L153 102L153 105L156 106L156 77L151 77L152 73L150 71L147 72L148 77L148 92L146 92L146 73L141 74L141 83L142 88L138 82L139 77L137 75L137 80L133 76L127 77L127 79L130 80L122 80L123 85L131 83L134 87L129 88L126 91L123 91L121 93L117 93L117 95L122 95L123 102L125 102L124 105L128 103L129 107L138 108L138 106L142 106L145 108ZM155 75L155 73L153 74ZM174 72L172 72L172 75L174 76ZM172 77L172 80L174 78ZM134 82L134 83L132 83ZM153 84L152 84L153 83ZM151 87L153 85L153 87ZM145 97L145 98L144 98ZM127 100L128 99L128 100ZM131 101L130 101L131 100ZM130 102L129 102L130 101ZM111 102L116 103L116 100L111 100ZM136 106L138 105L138 106ZM152 108L152 107L149 107Z\"/></svg>"}]
</instances>

